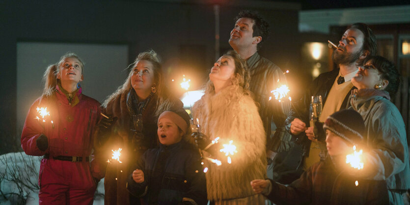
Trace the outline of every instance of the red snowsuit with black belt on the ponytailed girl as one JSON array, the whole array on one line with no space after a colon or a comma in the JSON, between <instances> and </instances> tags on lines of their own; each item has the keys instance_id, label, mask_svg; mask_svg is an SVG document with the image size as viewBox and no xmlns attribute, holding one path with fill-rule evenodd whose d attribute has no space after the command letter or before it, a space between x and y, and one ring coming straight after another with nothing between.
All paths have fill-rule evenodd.
<instances>
[{"instance_id":1,"label":"red snowsuit with black belt on the ponytailed girl","mask_svg":"<svg viewBox=\"0 0 410 205\"><path fill-rule=\"evenodd\" d=\"M28 155L49 155L41 160L38 183L40 205L92 205L99 176L97 165L91 162L92 134L100 117L100 103L81 94L69 103L56 86L54 97L39 98L30 107L21 137L22 148ZM50 116L45 122L36 108L47 107ZM40 120L36 119L36 116ZM53 120L53 123L51 122ZM36 140L41 135L48 139L48 148L41 151ZM82 157L79 162L54 159ZM77 159L78 160L78 159Z\"/></svg>"}]
</instances>

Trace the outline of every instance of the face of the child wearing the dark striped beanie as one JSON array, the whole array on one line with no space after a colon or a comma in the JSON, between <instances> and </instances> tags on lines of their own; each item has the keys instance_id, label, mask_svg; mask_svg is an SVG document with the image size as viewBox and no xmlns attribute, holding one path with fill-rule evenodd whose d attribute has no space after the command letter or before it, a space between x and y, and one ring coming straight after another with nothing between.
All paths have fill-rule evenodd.
<instances>
[{"instance_id":1,"label":"face of the child wearing the dark striped beanie","mask_svg":"<svg viewBox=\"0 0 410 205\"><path fill-rule=\"evenodd\" d=\"M353 146L349 146L345 140L330 130L326 130L326 147L330 156L347 154L353 150Z\"/></svg>"}]
</instances>

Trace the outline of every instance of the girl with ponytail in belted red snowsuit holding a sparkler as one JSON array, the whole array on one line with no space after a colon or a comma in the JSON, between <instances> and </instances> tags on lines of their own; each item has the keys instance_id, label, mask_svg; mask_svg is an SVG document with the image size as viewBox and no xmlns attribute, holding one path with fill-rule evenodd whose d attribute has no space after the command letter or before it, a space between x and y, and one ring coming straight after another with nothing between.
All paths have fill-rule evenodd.
<instances>
[{"instance_id":1,"label":"girl with ponytail in belted red snowsuit holding a sparkler","mask_svg":"<svg viewBox=\"0 0 410 205\"><path fill-rule=\"evenodd\" d=\"M44 155L38 178L40 205L92 205L94 178L101 178L91 161L100 103L82 94L82 69L82 60L72 53L50 65L43 95L27 114L22 148L28 155ZM49 115L43 118L37 108L47 108Z\"/></svg>"}]
</instances>

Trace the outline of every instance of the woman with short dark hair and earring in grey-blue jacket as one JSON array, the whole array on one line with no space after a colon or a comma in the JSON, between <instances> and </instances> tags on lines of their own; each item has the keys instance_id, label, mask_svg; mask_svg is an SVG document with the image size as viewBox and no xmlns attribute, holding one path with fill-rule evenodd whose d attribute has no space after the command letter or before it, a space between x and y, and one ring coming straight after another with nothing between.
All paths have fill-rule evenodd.
<instances>
[{"instance_id":1,"label":"woman with short dark hair and earring in grey-blue jacket","mask_svg":"<svg viewBox=\"0 0 410 205\"><path fill-rule=\"evenodd\" d=\"M400 84L392 62L370 57L353 77L358 88L352 91L351 104L364 119L367 146L364 153L365 179L386 180L391 204L403 204L402 194L410 188L409 149L403 118L390 102Z\"/></svg>"}]
</instances>

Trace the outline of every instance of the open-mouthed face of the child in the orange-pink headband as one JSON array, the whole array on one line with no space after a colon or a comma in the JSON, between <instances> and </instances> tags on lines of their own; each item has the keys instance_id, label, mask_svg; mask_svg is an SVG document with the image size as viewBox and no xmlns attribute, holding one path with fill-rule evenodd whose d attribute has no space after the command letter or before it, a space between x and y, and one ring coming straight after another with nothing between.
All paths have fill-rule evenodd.
<instances>
[{"instance_id":1,"label":"open-mouthed face of the child in the orange-pink headband","mask_svg":"<svg viewBox=\"0 0 410 205\"><path fill-rule=\"evenodd\" d=\"M178 143L181 141L183 135L175 123L164 117L158 122L157 134L160 139L160 143L166 146Z\"/></svg>"}]
</instances>

